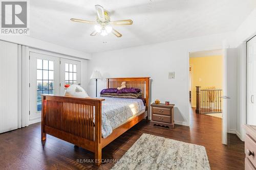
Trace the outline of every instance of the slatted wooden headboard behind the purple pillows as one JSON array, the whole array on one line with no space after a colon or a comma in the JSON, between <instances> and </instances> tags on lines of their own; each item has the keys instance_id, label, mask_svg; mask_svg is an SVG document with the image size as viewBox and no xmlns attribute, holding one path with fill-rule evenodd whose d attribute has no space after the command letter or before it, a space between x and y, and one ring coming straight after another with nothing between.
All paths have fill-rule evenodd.
<instances>
[{"instance_id":1,"label":"slatted wooden headboard behind the purple pillows","mask_svg":"<svg viewBox=\"0 0 256 170\"><path fill-rule=\"evenodd\" d=\"M136 77L136 78L108 78L106 79L106 88L117 88L121 86L122 82L126 82L126 87L134 87L141 89L142 98L146 101L146 110L149 105L150 95L150 77Z\"/></svg>"}]
</instances>

